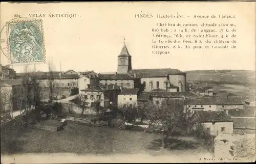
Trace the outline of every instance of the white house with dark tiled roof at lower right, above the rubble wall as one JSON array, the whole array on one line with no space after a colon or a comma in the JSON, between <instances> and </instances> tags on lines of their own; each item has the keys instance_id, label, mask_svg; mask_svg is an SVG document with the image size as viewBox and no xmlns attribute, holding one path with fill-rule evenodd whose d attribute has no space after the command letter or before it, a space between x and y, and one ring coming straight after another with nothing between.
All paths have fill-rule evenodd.
<instances>
[{"instance_id":1,"label":"white house with dark tiled roof at lower right, above the rubble wall","mask_svg":"<svg viewBox=\"0 0 256 164\"><path fill-rule=\"evenodd\" d=\"M195 111L195 119L199 120L211 135L233 133L233 121L225 112Z\"/></svg>"}]
</instances>

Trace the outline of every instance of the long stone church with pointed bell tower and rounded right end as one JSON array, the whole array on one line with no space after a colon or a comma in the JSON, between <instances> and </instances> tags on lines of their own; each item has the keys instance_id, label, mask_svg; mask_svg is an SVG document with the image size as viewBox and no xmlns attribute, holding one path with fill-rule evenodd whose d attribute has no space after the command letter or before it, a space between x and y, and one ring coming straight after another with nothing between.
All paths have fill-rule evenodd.
<instances>
[{"instance_id":1,"label":"long stone church with pointed bell tower and rounded right end","mask_svg":"<svg viewBox=\"0 0 256 164\"><path fill-rule=\"evenodd\" d=\"M125 88L144 88L144 91L186 92L186 73L178 69L132 69L132 56L125 43L117 57L117 72L99 76L101 84Z\"/></svg>"}]
</instances>

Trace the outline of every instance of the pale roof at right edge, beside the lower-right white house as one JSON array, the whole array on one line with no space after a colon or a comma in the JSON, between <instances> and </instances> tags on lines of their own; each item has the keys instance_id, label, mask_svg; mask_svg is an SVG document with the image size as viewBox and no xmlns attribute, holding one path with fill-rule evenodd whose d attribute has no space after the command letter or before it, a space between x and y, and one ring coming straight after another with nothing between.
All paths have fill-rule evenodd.
<instances>
[{"instance_id":1,"label":"pale roof at right edge, beside the lower-right white house","mask_svg":"<svg viewBox=\"0 0 256 164\"><path fill-rule=\"evenodd\" d=\"M234 128L241 128L241 129L255 129L255 122L256 119L255 117L250 117L250 118L232 118L233 120L233 126Z\"/></svg>"}]
</instances>

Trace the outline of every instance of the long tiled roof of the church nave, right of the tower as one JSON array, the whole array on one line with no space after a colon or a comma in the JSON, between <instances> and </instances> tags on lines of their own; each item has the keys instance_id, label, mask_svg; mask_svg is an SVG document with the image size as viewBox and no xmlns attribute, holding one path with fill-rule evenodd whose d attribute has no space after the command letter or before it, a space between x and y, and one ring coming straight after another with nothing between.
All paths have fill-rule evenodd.
<instances>
[{"instance_id":1,"label":"long tiled roof of the church nave, right of the tower","mask_svg":"<svg viewBox=\"0 0 256 164\"><path fill-rule=\"evenodd\" d=\"M178 69L133 69L129 71L130 75L136 73L137 77L166 77L168 74L185 74Z\"/></svg>"}]
</instances>

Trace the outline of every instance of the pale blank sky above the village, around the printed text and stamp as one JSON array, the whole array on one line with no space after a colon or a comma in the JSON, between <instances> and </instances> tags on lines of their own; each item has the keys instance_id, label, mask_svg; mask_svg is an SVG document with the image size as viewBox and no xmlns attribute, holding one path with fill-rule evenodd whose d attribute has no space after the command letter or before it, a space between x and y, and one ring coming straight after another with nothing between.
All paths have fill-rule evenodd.
<instances>
[{"instance_id":1,"label":"pale blank sky above the village, around the printed text and stamp","mask_svg":"<svg viewBox=\"0 0 256 164\"><path fill-rule=\"evenodd\" d=\"M189 10L188 10L189 6ZM132 56L133 69L176 68L187 70L255 70L255 8L252 3L60 3L1 4L1 29L15 14L42 19L46 59L56 71L117 70L117 56L125 44ZM218 10L217 10L218 9ZM153 18L135 18L152 13ZM212 19L164 19L159 14L236 15L235 20L215 20L237 24L237 49L171 49L172 54L152 54L152 28L157 22L214 22ZM49 14L76 14L73 18L53 18ZM38 18L37 18L38 19ZM1 33L1 39L4 34ZM1 44L3 47L3 44ZM9 60L1 51L1 64ZM60 69L61 63L61 69ZM13 66L17 72L24 66ZM33 70L33 65L29 66ZM47 64L37 64L36 71L47 71Z\"/></svg>"}]
</instances>

